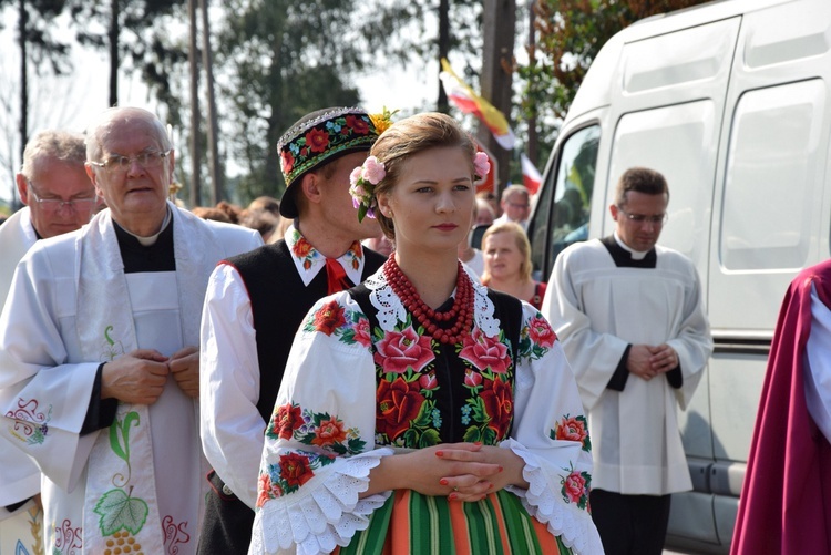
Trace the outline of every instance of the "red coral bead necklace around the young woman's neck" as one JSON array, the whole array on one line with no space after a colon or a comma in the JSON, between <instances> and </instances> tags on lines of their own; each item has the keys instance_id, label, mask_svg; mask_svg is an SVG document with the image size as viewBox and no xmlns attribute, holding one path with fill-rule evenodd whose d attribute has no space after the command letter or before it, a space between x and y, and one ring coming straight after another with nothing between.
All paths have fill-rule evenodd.
<instances>
[{"instance_id":1,"label":"red coral bead necklace around the young woman's neck","mask_svg":"<svg viewBox=\"0 0 831 555\"><path fill-rule=\"evenodd\" d=\"M392 292L401 299L404 308L433 339L442 345L455 345L470 335L473 325L473 282L464 271L462 263L459 263L453 306L445 312L437 312L421 300L416 287L399 268L394 256L383 264L383 275L392 287ZM453 319L455 320L449 329L439 327L440 322Z\"/></svg>"}]
</instances>

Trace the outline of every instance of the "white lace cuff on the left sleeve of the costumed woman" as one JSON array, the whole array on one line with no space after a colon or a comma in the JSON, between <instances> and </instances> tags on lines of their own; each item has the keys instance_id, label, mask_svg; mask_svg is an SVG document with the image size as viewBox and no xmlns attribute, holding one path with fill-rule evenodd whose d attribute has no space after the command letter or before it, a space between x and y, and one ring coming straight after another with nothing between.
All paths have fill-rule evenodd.
<instances>
[{"instance_id":1,"label":"white lace cuff on the left sleeve of the costumed woman","mask_svg":"<svg viewBox=\"0 0 831 555\"><path fill-rule=\"evenodd\" d=\"M383 492L358 499L369 487L369 471L391 454L391 449L377 449L340 458L330 472L299 491L266 502L255 516L248 554L295 553L291 547L297 545L298 555L312 555L349 545L390 496Z\"/></svg>"}]
</instances>

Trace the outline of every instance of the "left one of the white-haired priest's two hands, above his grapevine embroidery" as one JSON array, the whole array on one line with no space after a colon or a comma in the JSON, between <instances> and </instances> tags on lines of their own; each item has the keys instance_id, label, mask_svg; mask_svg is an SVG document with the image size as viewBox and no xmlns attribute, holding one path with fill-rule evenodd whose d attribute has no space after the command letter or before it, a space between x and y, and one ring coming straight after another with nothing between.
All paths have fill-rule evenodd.
<instances>
[{"instance_id":1,"label":"left one of the white-haired priest's two hands, above his grapevine embroidery","mask_svg":"<svg viewBox=\"0 0 831 555\"><path fill-rule=\"evenodd\" d=\"M167 382L167 357L155 349L136 349L101 370L101 399L153 404Z\"/></svg>"}]
</instances>

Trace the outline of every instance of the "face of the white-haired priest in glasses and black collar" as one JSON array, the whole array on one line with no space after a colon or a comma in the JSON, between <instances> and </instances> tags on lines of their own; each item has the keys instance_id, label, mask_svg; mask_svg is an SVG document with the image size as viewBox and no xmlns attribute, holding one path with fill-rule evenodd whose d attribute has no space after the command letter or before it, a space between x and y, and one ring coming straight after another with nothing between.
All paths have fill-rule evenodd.
<instances>
[{"instance_id":1,"label":"face of the white-haired priest in glasses and black collar","mask_svg":"<svg viewBox=\"0 0 831 555\"><path fill-rule=\"evenodd\" d=\"M107 165L88 165L96 191L115 222L133 233L146 235L144 227L161 225L166 214L173 151L165 154L157 129L141 119L114 120L102 140L102 147L101 160L93 162ZM119 163L122 157L129 158L124 165Z\"/></svg>"}]
</instances>

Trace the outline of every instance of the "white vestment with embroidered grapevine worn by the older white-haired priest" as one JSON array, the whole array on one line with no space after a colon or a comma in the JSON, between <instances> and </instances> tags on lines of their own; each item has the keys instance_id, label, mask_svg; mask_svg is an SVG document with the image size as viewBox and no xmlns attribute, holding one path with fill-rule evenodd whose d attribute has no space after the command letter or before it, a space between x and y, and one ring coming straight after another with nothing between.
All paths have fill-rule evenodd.
<instances>
[{"instance_id":1,"label":"white vestment with embroidered grapevine worn by the older white-haired priest","mask_svg":"<svg viewBox=\"0 0 831 555\"><path fill-rule=\"evenodd\" d=\"M103 553L114 534L145 553L196 551L207 485L196 401L168 378L156 403L119 403L110 429L80 434L99 364L198 346L215 264L261 245L256 232L168 206L175 273L125 275L104 210L30 250L0 317L0 434L44 474L50 553Z\"/></svg>"}]
</instances>

